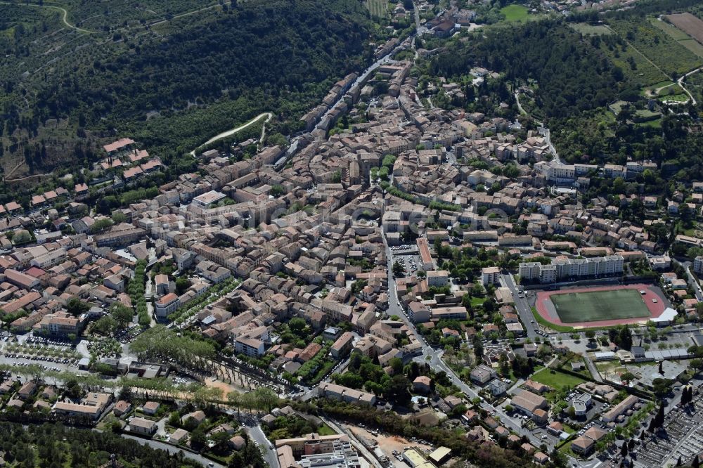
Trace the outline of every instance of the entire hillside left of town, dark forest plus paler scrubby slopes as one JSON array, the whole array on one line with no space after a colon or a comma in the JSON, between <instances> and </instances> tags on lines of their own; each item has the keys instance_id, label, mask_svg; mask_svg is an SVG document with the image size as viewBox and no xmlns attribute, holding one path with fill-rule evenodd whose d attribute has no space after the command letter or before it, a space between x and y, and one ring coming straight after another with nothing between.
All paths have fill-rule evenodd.
<instances>
[{"instance_id":1,"label":"entire hillside left of town, dark forest plus paler scrubby slopes","mask_svg":"<svg viewBox=\"0 0 703 468\"><path fill-rule=\"evenodd\" d=\"M70 22L98 31L67 28L48 8L0 6L0 155L24 155L35 170L91 160L101 138L117 135L176 155L263 111L295 130L373 55L355 0L247 0L153 25L118 8L104 30L83 20L94 12L81 2L66 6Z\"/></svg>"}]
</instances>

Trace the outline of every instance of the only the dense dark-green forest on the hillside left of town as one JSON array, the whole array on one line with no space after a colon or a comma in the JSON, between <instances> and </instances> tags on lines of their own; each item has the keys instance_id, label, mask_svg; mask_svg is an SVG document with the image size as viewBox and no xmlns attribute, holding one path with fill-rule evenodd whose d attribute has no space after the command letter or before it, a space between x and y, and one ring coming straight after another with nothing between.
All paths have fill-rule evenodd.
<instances>
[{"instance_id":1,"label":"only the dense dark-green forest on the hillside left of town","mask_svg":"<svg viewBox=\"0 0 703 468\"><path fill-rule=\"evenodd\" d=\"M75 88L53 86L45 102L70 112L69 96L81 90L105 104L101 117L121 119L225 90L234 98L257 87L270 96L305 93L359 67L365 37L361 25L324 1L247 1L158 44L96 60Z\"/></svg>"}]
</instances>

